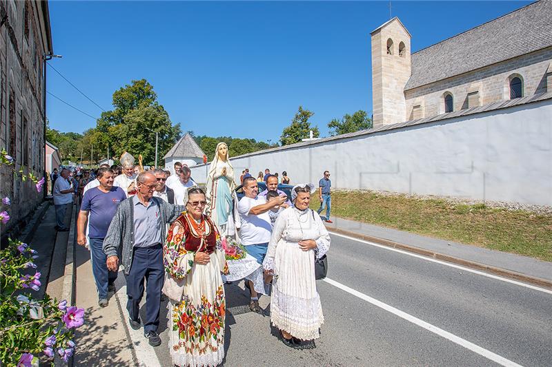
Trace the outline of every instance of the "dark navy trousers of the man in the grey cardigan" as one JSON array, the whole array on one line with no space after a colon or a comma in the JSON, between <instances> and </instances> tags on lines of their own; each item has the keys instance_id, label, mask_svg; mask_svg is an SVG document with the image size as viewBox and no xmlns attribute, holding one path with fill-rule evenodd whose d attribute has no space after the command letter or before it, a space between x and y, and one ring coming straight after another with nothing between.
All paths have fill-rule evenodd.
<instances>
[{"instance_id":1,"label":"dark navy trousers of the man in the grey cardigan","mask_svg":"<svg viewBox=\"0 0 552 367\"><path fill-rule=\"evenodd\" d=\"M138 321L139 305L144 295L144 280L146 280L146 319L142 320L146 333L157 331L157 326L159 326L159 308L164 275L161 244L152 247L135 247L130 273L126 277L126 295L128 295L126 309L130 318Z\"/></svg>"}]
</instances>

